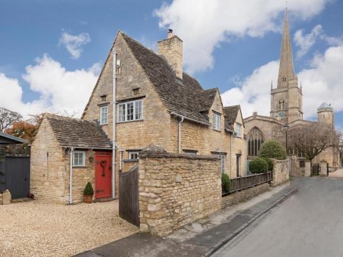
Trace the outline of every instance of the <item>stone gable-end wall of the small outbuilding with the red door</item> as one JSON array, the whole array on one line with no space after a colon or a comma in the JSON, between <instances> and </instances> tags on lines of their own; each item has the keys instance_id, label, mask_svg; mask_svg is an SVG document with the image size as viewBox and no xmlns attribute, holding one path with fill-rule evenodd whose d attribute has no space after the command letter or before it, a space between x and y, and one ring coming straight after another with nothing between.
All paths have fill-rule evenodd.
<instances>
[{"instance_id":1,"label":"stone gable-end wall of the small outbuilding with the red door","mask_svg":"<svg viewBox=\"0 0 343 257\"><path fill-rule=\"evenodd\" d=\"M67 167L49 121L43 119L31 146L30 192L36 199L64 202Z\"/></svg>"}]
</instances>

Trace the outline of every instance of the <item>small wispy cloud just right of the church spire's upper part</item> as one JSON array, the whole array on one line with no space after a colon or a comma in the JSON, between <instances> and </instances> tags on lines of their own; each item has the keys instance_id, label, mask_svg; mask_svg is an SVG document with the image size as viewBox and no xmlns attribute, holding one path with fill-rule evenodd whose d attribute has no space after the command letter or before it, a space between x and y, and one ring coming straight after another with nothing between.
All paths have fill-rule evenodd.
<instances>
[{"instance_id":1,"label":"small wispy cloud just right of the church spire's upper part","mask_svg":"<svg viewBox=\"0 0 343 257\"><path fill-rule=\"evenodd\" d=\"M305 56L314 45L316 39L322 34L322 26L316 25L309 34L304 35L304 29L298 29L294 34L294 42L300 49L296 52L298 58Z\"/></svg>"}]
</instances>

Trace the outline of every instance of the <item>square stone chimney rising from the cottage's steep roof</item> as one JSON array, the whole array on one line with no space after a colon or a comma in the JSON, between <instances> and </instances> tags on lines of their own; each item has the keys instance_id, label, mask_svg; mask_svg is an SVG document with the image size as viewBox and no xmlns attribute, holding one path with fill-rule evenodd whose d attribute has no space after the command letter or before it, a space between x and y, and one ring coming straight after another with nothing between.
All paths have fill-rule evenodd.
<instances>
[{"instance_id":1,"label":"square stone chimney rising from the cottage's steep roof","mask_svg":"<svg viewBox=\"0 0 343 257\"><path fill-rule=\"evenodd\" d=\"M182 79L182 40L168 29L167 38L158 41L158 54L167 60L176 77Z\"/></svg>"}]
</instances>

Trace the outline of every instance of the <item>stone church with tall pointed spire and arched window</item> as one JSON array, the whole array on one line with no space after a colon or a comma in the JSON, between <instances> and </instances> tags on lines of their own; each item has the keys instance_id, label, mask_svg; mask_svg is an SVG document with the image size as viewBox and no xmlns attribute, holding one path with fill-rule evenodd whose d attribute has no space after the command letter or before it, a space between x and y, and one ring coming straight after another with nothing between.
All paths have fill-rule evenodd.
<instances>
[{"instance_id":1,"label":"stone church with tall pointed spire and arched window","mask_svg":"<svg viewBox=\"0 0 343 257\"><path fill-rule=\"evenodd\" d=\"M286 145L287 130L297 125L311 125L320 123L323 126L334 128L335 117L331 104L322 103L318 108L318 121L305 121L303 119L303 90L298 84L298 77L294 73L292 57L291 36L289 33L288 13L285 13L283 39L279 66L279 77L276 88L270 89L270 117L254 112L252 116L244 119L247 133L247 158L257 156L261 144L274 138ZM304 159L297 156L292 149L288 154L294 156L296 165L302 167ZM339 167L339 153L337 149L325 149L313 162L327 162L329 170L334 171ZM303 174L297 174L303 175Z\"/></svg>"}]
</instances>

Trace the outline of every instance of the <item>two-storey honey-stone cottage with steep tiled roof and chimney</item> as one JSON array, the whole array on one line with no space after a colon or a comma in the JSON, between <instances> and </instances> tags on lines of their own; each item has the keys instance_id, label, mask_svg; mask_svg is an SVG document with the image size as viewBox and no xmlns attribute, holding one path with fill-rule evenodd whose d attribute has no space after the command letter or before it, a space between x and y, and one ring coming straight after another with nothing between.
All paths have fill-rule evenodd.
<instances>
[{"instance_id":1,"label":"two-storey honey-stone cottage with steep tiled roof and chimney","mask_svg":"<svg viewBox=\"0 0 343 257\"><path fill-rule=\"evenodd\" d=\"M158 53L154 53L123 32L117 33L81 118L97 124L99 133L104 132L112 143L112 197L118 193L119 171L126 172L138 164L139 151L150 143L169 153L220 156L223 173L232 178L245 175L241 110L237 106L224 108L218 88L204 90L182 71L182 44L169 29L167 38L158 42ZM66 130L65 136L74 131ZM39 138L38 133L35 141ZM38 142L35 144L44 148ZM92 146L84 148L88 149L86 154L95 151ZM63 151L69 152L70 147L76 149L67 145ZM106 147L110 149L110 145ZM69 178L69 169L64 171L63 178ZM91 181L96 184L96 179Z\"/></svg>"}]
</instances>

